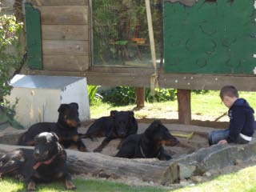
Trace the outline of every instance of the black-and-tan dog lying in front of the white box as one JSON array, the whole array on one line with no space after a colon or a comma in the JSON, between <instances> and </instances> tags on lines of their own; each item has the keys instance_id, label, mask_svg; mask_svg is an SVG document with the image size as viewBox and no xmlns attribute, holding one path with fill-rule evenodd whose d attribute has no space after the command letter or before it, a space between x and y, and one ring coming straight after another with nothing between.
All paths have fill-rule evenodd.
<instances>
[{"instance_id":1,"label":"black-and-tan dog lying in front of the white box","mask_svg":"<svg viewBox=\"0 0 256 192\"><path fill-rule=\"evenodd\" d=\"M80 126L78 104L61 104L58 108L58 122L38 122L22 134L18 140L19 146L34 146L34 137L42 132L54 132L58 135L59 142L65 148L72 144L80 151L87 151L82 139L78 137Z\"/></svg>"}]
</instances>

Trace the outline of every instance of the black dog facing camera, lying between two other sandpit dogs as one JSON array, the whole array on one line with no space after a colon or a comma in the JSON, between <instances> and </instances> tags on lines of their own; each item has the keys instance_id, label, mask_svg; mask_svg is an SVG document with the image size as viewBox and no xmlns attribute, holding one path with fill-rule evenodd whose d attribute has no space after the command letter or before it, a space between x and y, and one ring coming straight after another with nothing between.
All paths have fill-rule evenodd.
<instances>
[{"instance_id":1,"label":"black dog facing camera, lying between two other sandpit dogs","mask_svg":"<svg viewBox=\"0 0 256 192\"><path fill-rule=\"evenodd\" d=\"M126 138L130 134L136 134L138 123L133 111L111 110L110 117L98 118L87 130L83 138L106 137L94 152L102 149L114 138Z\"/></svg>"}]
</instances>

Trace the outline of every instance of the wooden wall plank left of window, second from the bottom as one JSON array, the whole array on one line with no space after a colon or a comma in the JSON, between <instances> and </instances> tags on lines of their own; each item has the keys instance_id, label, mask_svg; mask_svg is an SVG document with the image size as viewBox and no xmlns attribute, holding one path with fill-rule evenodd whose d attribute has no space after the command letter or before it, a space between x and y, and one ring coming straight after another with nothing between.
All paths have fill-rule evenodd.
<instances>
[{"instance_id":1,"label":"wooden wall plank left of window, second from the bottom","mask_svg":"<svg viewBox=\"0 0 256 192\"><path fill-rule=\"evenodd\" d=\"M89 41L42 41L42 54L89 56Z\"/></svg>"}]
</instances>

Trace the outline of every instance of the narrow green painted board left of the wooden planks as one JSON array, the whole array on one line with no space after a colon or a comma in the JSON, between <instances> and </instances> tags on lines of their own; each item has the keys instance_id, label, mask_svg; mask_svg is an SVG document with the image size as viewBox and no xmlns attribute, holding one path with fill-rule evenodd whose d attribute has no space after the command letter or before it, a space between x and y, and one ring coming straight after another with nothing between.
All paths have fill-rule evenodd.
<instances>
[{"instance_id":1,"label":"narrow green painted board left of the wooden planks","mask_svg":"<svg viewBox=\"0 0 256 192\"><path fill-rule=\"evenodd\" d=\"M31 70L42 70L42 38L40 12L26 2L26 49Z\"/></svg>"}]
</instances>

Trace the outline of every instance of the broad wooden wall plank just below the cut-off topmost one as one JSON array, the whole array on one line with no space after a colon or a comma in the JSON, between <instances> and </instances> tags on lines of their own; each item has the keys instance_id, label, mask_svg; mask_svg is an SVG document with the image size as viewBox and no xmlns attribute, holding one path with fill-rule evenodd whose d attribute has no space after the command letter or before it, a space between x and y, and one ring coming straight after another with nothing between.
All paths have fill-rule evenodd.
<instances>
[{"instance_id":1,"label":"broad wooden wall plank just below the cut-off topmost one","mask_svg":"<svg viewBox=\"0 0 256 192\"><path fill-rule=\"evenodd\" d=\"M42 24L46 25L86 25L88 6L38 6Z\"/></svg>"}]
</instances>

